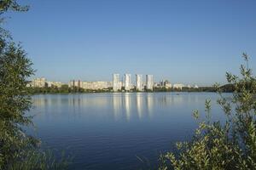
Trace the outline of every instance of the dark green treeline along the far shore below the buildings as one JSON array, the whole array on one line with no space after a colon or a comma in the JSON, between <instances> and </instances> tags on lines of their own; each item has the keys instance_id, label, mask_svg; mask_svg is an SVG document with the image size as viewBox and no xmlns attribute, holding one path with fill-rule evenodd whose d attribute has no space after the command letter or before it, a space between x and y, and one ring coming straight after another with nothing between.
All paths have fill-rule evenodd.
<instances>
[{"instance_id":1,"label":"dark green treeline along the far shore below the buildings","mask_svg":"<svg viewBox=\"0 0 256 170\"><path fill-rule=\"evenodd\" d=\"M231 84L226 84L221 87L223 92L233 92L234 86ZM84 89L84 88L69 88L67 85L62 85L61 88L51 87L51 88L28 88L31 94L73 94L73 93L110 93L113 92L112 88L106 89ZM119 92L125 92L124 88ZM137 92L133 89L130 92ZM154 91L145 90L145 92L216 92L213 87L200 87L200 88L154 88Z\"/></svg>"}]
</instances>

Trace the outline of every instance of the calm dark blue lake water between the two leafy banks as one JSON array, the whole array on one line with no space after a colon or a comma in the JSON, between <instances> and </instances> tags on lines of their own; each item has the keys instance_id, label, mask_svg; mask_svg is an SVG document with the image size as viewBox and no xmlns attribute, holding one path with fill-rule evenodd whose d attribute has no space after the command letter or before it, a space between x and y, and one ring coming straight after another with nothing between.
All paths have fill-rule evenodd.
<instances>
[{"instance_id":1,"label":"calm dark blue lake water between the two leafy banks","mask_svg":"<svg viewBox=\"0 0 256 170\"><path fill-rule=\"evenodd\" d=\"M74 156L70 169L148 169L191 137L192 111L204 115L205 99L223 119L211 93L42 94L30 114L45 144Z\"/></svg>"}]
</instances>

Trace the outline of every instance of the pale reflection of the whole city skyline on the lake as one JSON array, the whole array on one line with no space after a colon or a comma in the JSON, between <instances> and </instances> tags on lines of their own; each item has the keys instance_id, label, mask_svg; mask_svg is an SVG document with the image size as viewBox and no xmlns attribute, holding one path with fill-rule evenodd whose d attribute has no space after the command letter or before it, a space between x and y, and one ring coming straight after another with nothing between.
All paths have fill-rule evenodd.
<instances>
[{"instance_id":1,"label":"pale reflection of the whole city skyline on the lake","mask_svg":"<svg viewBox=\"0 0 256 170\"><path fill-rule=\"evenodd\" d=\"M130 122L132 119L153 118L156 107L193 105L201 100L199 98L200 95L182 93L49 94L35 95L32 101L41 112L54 108L55 112L69 110L73 114L92 114L90 111L96 110L102 116L111 114L115 121L125 119Z\"/></svg>"}]
</instances>

